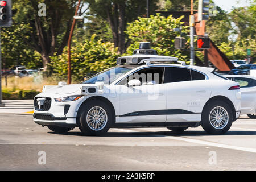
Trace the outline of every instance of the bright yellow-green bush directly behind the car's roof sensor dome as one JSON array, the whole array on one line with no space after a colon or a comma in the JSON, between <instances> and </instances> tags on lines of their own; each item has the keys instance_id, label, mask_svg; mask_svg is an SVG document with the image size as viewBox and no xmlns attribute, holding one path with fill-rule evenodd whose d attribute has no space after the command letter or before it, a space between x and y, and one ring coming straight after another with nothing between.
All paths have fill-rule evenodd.
<instances>
[{"instance_id":1,"label":"bright yellow-green bush directly behind the car's roof sensor dome","mask_svg":"<svg viewBox=\"0 0 256 182\"><path fill-rule=\"evenodd\" d=\"M138 49L139 42L151 42L151 47L156 49L159 55L178 57L179 60L188 61L188 53L174 48L175 37L179 32L174 28L182 27L182 31L188 34L188 27L181 22L183 16L178 19L168 16L151 15L150 18L138 18L133 23L128 23L126 34L131 39L127 48L127 54L131 55L134 49ZM187 47L189 43L187 42Z\"/></svg>"}]
</instances>

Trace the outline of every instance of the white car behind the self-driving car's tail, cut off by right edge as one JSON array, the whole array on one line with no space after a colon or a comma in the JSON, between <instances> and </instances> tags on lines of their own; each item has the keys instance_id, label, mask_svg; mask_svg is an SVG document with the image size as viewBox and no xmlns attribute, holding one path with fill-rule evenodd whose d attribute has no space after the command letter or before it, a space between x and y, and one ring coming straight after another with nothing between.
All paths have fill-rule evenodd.
<instances>
[{"instance_id":1,"label":"white car behind the self-driving car's tail, cut off by right edge","mask_svg":"<svg viewBox=\"0 0 256 182\"><path fill-rule=\"evenodd\" d=\"M247 75L224 75L232 81L240 84L241 90L241 114L247 114L256 119L256 77Z\"/></svg>"}]
</instances>

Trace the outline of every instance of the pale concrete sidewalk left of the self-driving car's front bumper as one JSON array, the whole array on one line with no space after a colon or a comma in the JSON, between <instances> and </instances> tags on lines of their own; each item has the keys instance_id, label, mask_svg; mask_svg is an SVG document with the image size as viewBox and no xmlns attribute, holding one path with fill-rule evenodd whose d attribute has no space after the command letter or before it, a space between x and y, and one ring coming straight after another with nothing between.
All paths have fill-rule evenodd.
<instances>
[{"instance_id":1,"label":"pale concrete sidewalk left of the self-driving car's front bumper","mask_svg":"<svg viewBox=\"0 0 256 182\"><path fill-rule=\"evenodd\" d=\"M0 113L32 114L34 100L3 100L5 107L0 107Z\"/></svg>"}]
</instances>

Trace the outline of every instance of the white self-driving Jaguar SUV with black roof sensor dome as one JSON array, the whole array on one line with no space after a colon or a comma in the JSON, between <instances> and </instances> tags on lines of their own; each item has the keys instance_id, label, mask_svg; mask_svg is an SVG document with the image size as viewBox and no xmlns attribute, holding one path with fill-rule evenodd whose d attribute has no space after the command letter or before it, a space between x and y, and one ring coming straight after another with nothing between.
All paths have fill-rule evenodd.
<instances>
[{"instance_id":1,"label":"white self-driving Jaguar SUV with black roof sensor dome","mask_svg":"<svg viewBox=\"0 0 256 182\"><path fill-rule=\"evenodd\" d=\"M241 93L237 82L213 68L158 56L142 43L132 56L119 57L117 67L81 84L44 86L34 101L34 121L59 133L74 127L87 135L110 127L179 132L201 125L209 134L223 134L240 115Z\"/></svg>"}]
</instances>

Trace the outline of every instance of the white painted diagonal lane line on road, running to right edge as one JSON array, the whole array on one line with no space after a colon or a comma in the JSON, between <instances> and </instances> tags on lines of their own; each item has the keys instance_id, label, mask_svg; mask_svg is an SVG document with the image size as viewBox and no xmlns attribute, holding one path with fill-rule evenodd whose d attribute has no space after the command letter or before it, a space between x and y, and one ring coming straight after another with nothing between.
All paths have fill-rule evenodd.
<instances>
[{"instance_id":1,"label":"white painted diagonal lane line on road, running to right edge","mask_svg":"<svg viewBox=\"0 0 256 182\"><path fill-rule=\"evenodd\" d=\"M119 131L123 129L117 129ZM130 132L135 132L135 130L129 130ZM147 130L150 132L149 130ZM220 147L220 148L228 148L228 149L233 149L233 150L241 150L241 151L246 151L246 152L253 152L256 153L256 148L247 148L247 147L238 147L238 146L230 146L227 144L221 144L221 143L214 143L214 142L207 142L203 140L197 140L197 139L191 139L191 138L184 138L184 137L175 137L175 136L166 136L166 135L154 135L155 137L164 137L168 139L173 139L173 140L180 140L183 142L190 142L190 143L196 143L196 144L203 144L205 146L213 146L213 147Z\"/></svg>"}]
</instances>

